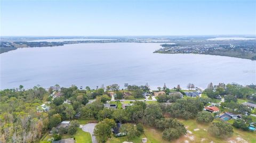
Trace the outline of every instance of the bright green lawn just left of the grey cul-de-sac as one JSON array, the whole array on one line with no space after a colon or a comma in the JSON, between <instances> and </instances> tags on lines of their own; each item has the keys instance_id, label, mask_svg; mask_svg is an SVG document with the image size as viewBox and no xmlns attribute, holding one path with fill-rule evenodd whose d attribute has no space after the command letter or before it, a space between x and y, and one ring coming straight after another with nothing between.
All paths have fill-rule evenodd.
<instances>
[{"instance_id":1,"label":"bright green lawn just left of the grey cul-de-sac","mask_svg":"<svg viewBox=\"0 0 256 143\"><path fill-rule=\"evenodd\" d=\"M47 133L46 137L41 139L39 143L47 143L47 139L51 138L52 136ZM92 138L91 134L89 132L84 132L82 129L78 128L76 134L73 136L69 134L64 134L61 139L68 139L68 138L75 138L77 142L83 142L83 143L91 143Z\"/></svg>"}]
</instances>

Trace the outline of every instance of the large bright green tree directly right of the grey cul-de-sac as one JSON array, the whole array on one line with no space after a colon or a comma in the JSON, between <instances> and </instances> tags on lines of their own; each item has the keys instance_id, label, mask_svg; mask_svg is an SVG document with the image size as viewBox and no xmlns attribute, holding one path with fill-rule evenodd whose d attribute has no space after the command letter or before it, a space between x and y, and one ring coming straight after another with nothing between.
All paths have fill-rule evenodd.
<instances>
[{"instance_id":1,"label":"large bright green tree directly right of the grey cul-de-sac","mask_svg":"<svg viewBox=\"0 0 256 143\"><path fill-rule=\"evenodd\" d=\"M100 142L106 142L111 137L111 128L114 128L116 123L113 119L104 119L100 121L94 128L94 136L96 136Z\"/></svg>"}]
</instances>

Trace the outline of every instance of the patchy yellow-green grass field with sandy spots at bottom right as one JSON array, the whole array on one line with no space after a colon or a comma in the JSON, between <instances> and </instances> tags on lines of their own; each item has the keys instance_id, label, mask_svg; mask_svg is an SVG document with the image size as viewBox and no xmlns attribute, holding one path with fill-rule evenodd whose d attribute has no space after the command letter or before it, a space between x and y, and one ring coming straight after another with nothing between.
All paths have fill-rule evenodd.
<instances>
[{"instance_id":1,"label":"patchy yellow-green grass field with sandy spots at bottom right","mask_svg":"<svg viewBox=\"0 0 256 143\"><path fill-rule=\"evenodd\" d=\"M140 143L142 138L147 138L149 143L167 143L167 142L256 142L256 133L243 131L234 128L234 135L228 139L220 139L210 136L207 132L210 124L201 124L197 123L196 120L179 120L185 127L187 128L187 134L185 136L180 137L177 140L167 141L162 139L162 131L156 128L144 127L144 134L140 137L137 137L130 142ZM220 120L214 120L214 122L221 122ZM117 143L127 141L126 137L115 138L112 137L107 142L108 143Z\"/></svg>"}]
</instances>

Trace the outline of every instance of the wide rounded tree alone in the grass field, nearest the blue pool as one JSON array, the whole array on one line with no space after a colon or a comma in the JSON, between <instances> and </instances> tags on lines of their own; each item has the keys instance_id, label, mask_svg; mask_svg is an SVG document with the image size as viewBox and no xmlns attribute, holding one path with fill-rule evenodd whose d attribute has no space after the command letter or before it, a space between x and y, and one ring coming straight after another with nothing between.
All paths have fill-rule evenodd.
<instances>
[{"instance_id":1,"label":"wide rounded tree alone in the grass field, nearest the blue pool","mask_svg":"<svg viewBox=\"0 0 256 143\"><path fill-rule=\"evenodd\" d=\"M229 138L233 136L233 128L229 123L226 122L216 122L212 123L209 127L208 132L217 138Z\"/></svg>"}]
</instances>

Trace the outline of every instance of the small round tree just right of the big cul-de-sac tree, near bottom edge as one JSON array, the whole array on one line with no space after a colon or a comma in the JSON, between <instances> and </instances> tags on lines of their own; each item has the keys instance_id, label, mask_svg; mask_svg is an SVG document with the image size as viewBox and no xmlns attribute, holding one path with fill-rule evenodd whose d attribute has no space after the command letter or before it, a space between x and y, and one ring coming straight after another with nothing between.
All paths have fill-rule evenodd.
<instances>
[{"instance_id":1,"label":"small round tree just right of the big cul-de-sac tree, near bottom edge","mask_svg":"<svg viewBox=\"0 0 256 143\"><path fill-rule=\"evenodd\" d=\"M120 128L120 131L126 134L128 140L131 140L138 135L137 128L130 123L123 124Z\"/></svg>"}]
</instances>

